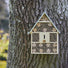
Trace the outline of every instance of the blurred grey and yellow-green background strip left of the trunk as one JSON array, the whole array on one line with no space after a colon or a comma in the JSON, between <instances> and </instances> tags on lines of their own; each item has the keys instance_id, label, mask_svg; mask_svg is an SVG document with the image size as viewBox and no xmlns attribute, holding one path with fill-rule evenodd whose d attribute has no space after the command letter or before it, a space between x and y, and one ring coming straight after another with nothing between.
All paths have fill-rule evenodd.
<instances>
[{"instance_id":1,"label":"blurred grey and yellow-green background strip left of the trunk","mask_svg":"<svg viewBox=\"0 0 68 68\"><path fill-rule=\"evenodd\" d=\"M0 68L6 68L9 45L9 0L0 0Z\"/></svg>"}]
</instances>

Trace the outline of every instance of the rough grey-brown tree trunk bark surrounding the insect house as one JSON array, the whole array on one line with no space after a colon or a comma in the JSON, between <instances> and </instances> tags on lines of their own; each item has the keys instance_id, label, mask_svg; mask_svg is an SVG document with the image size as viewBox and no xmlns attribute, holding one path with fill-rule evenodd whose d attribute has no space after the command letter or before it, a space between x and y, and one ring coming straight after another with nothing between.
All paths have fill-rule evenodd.
<instances>
[{"instance_id":1,"label":"rough grey-brown tree trunk bark surrounding the insect house","mask_svg":"<svg viewBox=\"0 0 68 68\"><path fill-rule=\"evenodd\" d=\"M31 54L27 32L45 10L61 31L58 55ZM68 68L67 19L68 0L11 0L7 68Z\"/></svg>"}]
</instances>

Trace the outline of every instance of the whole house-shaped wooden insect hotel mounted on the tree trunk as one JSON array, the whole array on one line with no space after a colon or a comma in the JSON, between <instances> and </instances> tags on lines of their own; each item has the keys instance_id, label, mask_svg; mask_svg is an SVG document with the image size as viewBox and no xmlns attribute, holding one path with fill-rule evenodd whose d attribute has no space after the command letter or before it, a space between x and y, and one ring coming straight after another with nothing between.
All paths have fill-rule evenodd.
<instances>
[{"instance_id":1,"label":"whole house-shaped wooden insect hotel mounted on the tree trunk","mask_svg":"<svg viewBox=\"0 0 68 68\"><path fill-rule=\"evenodd\" d=\"M58 54L60 31L44 12L31 31L31 54Z\"/></svg>"}]
</instances>

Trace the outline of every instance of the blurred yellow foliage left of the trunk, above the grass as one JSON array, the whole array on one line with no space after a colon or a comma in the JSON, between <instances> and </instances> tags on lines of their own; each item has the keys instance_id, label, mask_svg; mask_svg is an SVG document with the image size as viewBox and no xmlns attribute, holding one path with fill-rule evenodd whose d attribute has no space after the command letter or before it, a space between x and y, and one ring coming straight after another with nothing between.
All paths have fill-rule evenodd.
<instances>
[{"instance_id":1,"label":"blurred yellow foliage left of the trunk, above the grass","mask_svg":"<svg viewBox=\"0 0 68 68\"><path fill-rule=\"evenodd\" d=\"M0 60L7 59L8 44L9 34L4 33L3 30L0 30Z\"/></svg>"}]
</instances>

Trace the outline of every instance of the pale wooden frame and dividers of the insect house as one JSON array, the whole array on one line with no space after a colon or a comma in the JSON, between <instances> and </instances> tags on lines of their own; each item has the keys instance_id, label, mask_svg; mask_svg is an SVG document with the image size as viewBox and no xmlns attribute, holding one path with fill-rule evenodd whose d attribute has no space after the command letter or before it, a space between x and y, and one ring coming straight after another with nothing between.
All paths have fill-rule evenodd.
<instances>
[{"instance_id":1,"label":"pale wooden frame and dividers of the insect house","mask_svg":"<svg viewBox=\"0 0 68 68\"><path fill-rule=\"evenodd\" d=\"M41 17L43 16L43 15L46 15L46 17L49 19L49 20L43 20L43 21L40 21L40 19L41 19ZM41 17L38 19L38 21L35 23L35 25L33 26L33 28L31 29L31 31L29 32L29 33L31 33L31 54L58 54L59 53L59 46L58 46L58 39L59 39L59 33L60 33L60 31L57 29L57 27L54 25L54 23L52 22L52 20L49 18L49 16L46 14L46 12L44 12L42 15L41 15ZM54 28L57 30L57 32L33 32L32 30L35 28L35 26L36 25L38 25L38 23L51 23L53 26L54 26ZM39 25L40 26L40 25ZM28 34L29 34L28 33ZM46 34L46 33L49 33L49 41L48 42L40 42L40 39L39 39L39 42L33 42L32 41L32 34L33 33L39 33L39 35L40 35L40 33L42 33L43 35L44 35L44 33ZM50 42L50 33L56 33L57 34L57 41L56 42ZM41 36L42 36L42 34L41 34ZM40 36L39 36L40 37ZM46 39L45 39L46 40ZM57 43L57 53L40 53L40 52L35 52L35 53L33 53L32 52L32 44L33 43L41 43L41 44L43 44L43 43Z\"/></svg>"}]
</instances>

